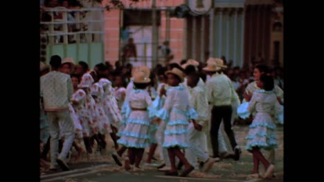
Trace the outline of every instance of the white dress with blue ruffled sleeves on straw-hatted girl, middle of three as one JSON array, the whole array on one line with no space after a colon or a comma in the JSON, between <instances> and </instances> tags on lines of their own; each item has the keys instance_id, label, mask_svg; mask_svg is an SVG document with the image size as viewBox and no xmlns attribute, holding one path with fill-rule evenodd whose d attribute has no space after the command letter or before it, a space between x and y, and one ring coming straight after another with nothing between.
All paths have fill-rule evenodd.
<instances>
[{"instance_id":1,"label":"white dress with blue ruffled sleeves on straw-hatted girl, middle of three","mask_svg":"<svg viewBox=\"0 0 324 182\"><path fill-rule=\"evenodd\" d=\"M163 148L188 148L189 119L196 119L197 112L189 103L188 92L182 85L170 87L163 108L156 112L156 117L164 120L167 125Z\"/></svg>"}]
</instances>

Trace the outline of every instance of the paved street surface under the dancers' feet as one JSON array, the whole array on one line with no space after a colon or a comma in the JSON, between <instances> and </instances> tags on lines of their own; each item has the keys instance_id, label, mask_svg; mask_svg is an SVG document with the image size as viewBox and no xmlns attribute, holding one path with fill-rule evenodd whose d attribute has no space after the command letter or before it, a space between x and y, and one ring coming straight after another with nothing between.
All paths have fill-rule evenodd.
<instances>
[{"instance_id":1,"label":"paved street surface under the dancers' feet","mask_svg":"<svg viewBox=\"0 0 324 182\"><path fill-rule=\"evenodd\" d=\"M42 174L41 181L81 181L81 182L99 182L99 181L246 181L246 176L251 173L253 168L252 155L244 150L245 136L249 130L247 125L235 125L233 127L235 131L235 138L237 143L242 148L242 155L240 161L233 161L232 159L223 159L222 161L215 163L213 168L208 173L190 173L186 178L165 176L163 172L158 172L156 168L143 166L145 171L134 172L125 171L123 168L116 165L111 161L111 152L113 149L110 147L105 155L94 154L90 156L82 156L80 161L73 161L69 166L71 171L69 172L46 172ZM276 177L271 180L257 179L250 181L271 181L279 182L283 181L283 127L278 125L278 149L276 150ZM109 146L111 146L110 138ZM156 157L157 155L156 151ZM144 156L145 159L146 156ZM197 177L198 176L200 177Z\"/></svg>"}]
</instances>

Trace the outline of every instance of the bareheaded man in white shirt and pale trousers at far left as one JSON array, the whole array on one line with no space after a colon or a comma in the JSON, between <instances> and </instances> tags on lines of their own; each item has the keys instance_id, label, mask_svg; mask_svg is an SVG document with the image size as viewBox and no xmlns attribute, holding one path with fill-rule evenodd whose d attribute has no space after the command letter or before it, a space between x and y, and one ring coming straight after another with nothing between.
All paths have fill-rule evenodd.
<instances>
[{"instance_id":1,"label":"bareheaded man in white shirt and pale trousers at far left","mask_svg":"<svg viewBox=\"0 0 324 182\"><path fill-rule=\"evenodd\" d=\"M51 57L51 72L40 78L40 92L44 99L44 110L47 112L49 131L51 134L51 170L58 163L62 170L69 170L65 159L74 141L73 122L69 114L69 99L73 94L73 86L69 74L59 72L61 57ZM64 136L63 148L58 154L60 133Z\"/></svg>"}]
</instances>

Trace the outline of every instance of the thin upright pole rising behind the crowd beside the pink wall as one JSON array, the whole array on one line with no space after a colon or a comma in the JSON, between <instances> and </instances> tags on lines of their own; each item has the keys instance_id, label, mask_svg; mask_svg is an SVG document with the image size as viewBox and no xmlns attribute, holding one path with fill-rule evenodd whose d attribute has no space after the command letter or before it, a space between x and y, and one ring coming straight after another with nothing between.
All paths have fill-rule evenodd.
<instances>
[{"instance_id":1,"label":"thin upright pole rising behind the crowd beside the pink wall","mask_svg":"<svg viewBox=\"0 0 324 182\"><path fill-rule=\"evenodd\" d=\"M156 0L152 1L152 68L155 67L157 61L157 39L158 31L156 26Z\"/></svg>"}]
</instances>

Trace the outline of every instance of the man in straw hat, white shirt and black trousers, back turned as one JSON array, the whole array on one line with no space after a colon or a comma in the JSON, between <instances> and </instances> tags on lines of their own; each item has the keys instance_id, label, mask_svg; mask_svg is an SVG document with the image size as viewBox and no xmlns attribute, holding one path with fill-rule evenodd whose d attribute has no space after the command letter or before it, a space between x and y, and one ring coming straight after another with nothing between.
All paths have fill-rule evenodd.
<instances>
[{"instance_id":1,"label":"man in straw hat, white shirt and black trousers, back turned","mask_svg":"<svg viewBox=\"0 0 324 182\"><path fill-rule=\"evenodd\" d=\"M207 99L213 105L210 119L210 141L213 148L213 157L219 158L217 137L219 125L223 121L224 130L235 152L234 160L237 161L240 159L240 148L238 148L235 141L231 124L232 103L235 101L235 90L231 79L223 74L222 68L226 68L224 61L215 58L208 59L207 66L203 68L211 76L206 83Z\"/></svg>"}]
</instances>

